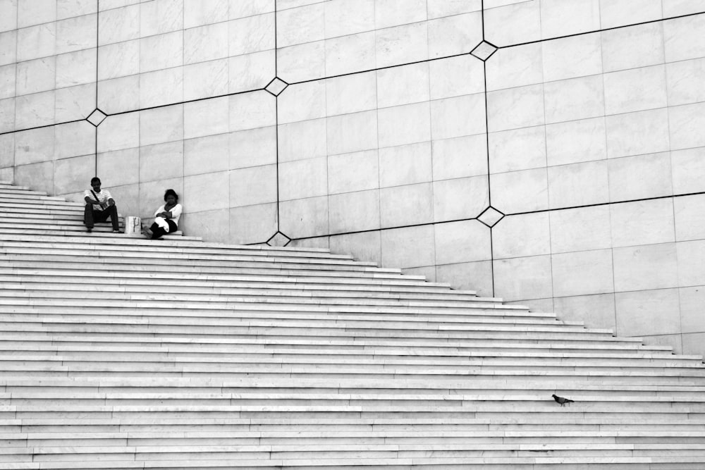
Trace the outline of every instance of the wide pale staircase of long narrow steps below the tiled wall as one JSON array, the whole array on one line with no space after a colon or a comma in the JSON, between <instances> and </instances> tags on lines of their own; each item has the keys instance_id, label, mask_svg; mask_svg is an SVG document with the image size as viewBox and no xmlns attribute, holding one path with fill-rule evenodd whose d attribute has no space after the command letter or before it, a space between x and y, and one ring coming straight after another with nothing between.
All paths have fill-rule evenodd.
<instances>
[{"instance_id":1,"label":"wide pale staircase of long narrow steps below the tiled wall","mask_svg":"<svg viewBox=\"0 0 705 470\"><path fill-rule=\"evenodd\" d=\"M705 469L701 357L321 249L81 218L0 184L0 469Z\"/></svg>"}]
</instances>

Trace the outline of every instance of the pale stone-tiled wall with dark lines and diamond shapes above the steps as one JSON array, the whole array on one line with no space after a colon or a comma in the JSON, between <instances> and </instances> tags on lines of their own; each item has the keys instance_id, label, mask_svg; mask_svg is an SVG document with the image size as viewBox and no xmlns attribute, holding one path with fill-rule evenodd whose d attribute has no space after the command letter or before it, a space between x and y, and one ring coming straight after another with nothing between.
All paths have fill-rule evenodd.
<instances>
[{"instance_id":1,"label":"pale stone-tiled wall with dark lines and diamond shapes above the steps","mask_svg":"<svg viewBox=\"0 0 705 470\"><path fill-rule=\"evenodd\" d=\"M189 235L702 354L704 31L699 0L0 0L0 179L97 173L143 217L173 187Z\"/></svg>"}]
</instances>

